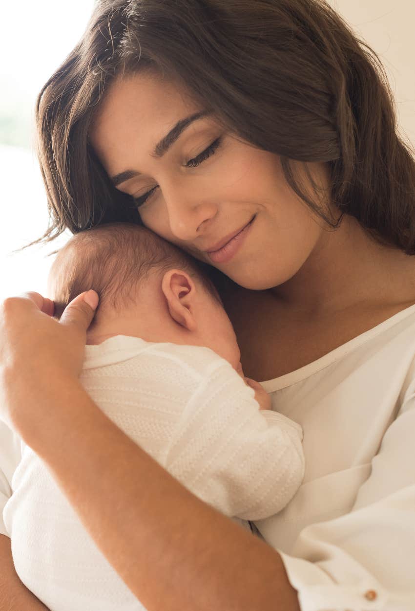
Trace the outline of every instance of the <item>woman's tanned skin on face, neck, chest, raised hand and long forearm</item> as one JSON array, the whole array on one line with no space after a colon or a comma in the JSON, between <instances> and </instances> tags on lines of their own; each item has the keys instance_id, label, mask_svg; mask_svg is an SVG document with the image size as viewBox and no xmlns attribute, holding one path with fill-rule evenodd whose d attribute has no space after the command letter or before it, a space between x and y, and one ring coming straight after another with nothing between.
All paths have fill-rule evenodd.
<instances>
[{"instance_id":1,"label":"woman's tanned skin on face, neck, chest, raised hand and long forearm","mask_svg":"<svg viewBox=\"0 0 415 611\"><path fill-rule=\"evenodd\" d=\"M143 221L198 258L256 214L244 247L218 265L241 287L225 305L248 375L292 371L415 302L414 259L375 243L348 217L328 232L287 188L278 156L226 134L217 156L184 168L219 135L204 119L152 158L156 142L192 111L186 92L136 75L114 83L92 143L110 175L143 174L119 188L138 196L160 185ZM309 169L325 185L325 167ZM60 323L46 313L51 302L40 295L1 306L3 415L48 464L137 598L149 611L298 611L280 554L199 502L85 395L77 382L93 316L85 295Z\"/></svg>"}]
</instances>

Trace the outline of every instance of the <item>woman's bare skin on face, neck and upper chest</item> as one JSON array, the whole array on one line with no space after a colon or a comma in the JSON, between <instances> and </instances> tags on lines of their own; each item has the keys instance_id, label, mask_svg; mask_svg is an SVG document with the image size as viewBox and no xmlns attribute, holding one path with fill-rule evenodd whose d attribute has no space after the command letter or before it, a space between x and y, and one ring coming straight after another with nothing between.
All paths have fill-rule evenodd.
<instances>
[{"instance_id":1,"label":"woman's bare skin on face, neck and upper chest","mask_svg":"<svg viewBox=\"0 0 415 611\"><path fill-rule=\"evenodd\" d=\"M213 264L240 287L223 299L251 378L301 367L415 302L414 257L381 246L350 216L331 230L289 188L278 155L224 132L214 117L193 122L162 158L151 155L178 120L201 110L156 74L126 76L107 92L90 139L110 177L140 172L118 189L141 197L156 187L139 208L144 224L204 262L212 264L209 247L255 216L236 256ZM186 167L218 137L212 156ZM336 220L327 167L307 166L320 187L314 199ZM297 172L306 180L302 164Z\"/></svg>"}]
</instances>

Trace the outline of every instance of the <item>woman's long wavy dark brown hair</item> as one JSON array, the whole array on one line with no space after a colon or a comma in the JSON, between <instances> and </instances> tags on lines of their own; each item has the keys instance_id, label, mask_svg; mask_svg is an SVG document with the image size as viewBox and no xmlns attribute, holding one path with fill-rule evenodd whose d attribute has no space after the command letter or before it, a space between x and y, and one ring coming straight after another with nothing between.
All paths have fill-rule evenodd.
<instances>
[{"instance_id":1,"label":"woman's long wavy dark brown hair","mask_svg":"<svg viewBox=\"0 0 415 611\"><path fill-rule=\"evenodd\" d=\"M99 101L121 74L156 70L218 123L291 160L325 162L330 199L374 237L415 254L415 161L397 133L392 93L375 52L323 0L101 0L85 34L37 101L38 155L51 225L139 223L88 143ZM316 185L314 185L316 188Z\"/></svg>"}]
</instances>

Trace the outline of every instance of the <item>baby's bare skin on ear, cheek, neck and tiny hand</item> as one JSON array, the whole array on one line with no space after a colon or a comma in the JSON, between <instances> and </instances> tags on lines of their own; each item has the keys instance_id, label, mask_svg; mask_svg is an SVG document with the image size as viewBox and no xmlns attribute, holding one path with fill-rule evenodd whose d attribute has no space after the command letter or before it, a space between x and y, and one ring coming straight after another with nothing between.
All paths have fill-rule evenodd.
<instances>
[{"instance_id":1,"label":"baby's bare skin on ear, cheek, neck and tiny hand","mask_svg":"<svg viewBox=\"0 0 415 611\"><path fill-rule=\"evenodd\" d=\"M61 258L64 253L62 249ZM82 251L79 254L82 255ZM59 261L56 261L48 278L48 293L52 297L59 276ZM87 331L87 344L100 344L115 335L140 337L146 342L210 348L227 360L254 389L260 409L271 409L270 395L258 382L244 376L236 335L225 310L204 290L201 282L192 279L184 269L151 274L146 282L140 282L134 301L121 309L98 310L95 324Z\"/></svg>"}]
</instances>

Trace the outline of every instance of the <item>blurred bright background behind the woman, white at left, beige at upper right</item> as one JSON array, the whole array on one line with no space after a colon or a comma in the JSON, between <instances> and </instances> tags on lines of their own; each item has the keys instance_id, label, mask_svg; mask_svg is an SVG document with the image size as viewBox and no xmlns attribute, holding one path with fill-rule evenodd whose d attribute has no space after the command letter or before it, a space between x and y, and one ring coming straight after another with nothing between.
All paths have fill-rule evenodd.
<instances>
[{"instance_id":1,"label":"blurred bright background behind the woman, white at left, beige at upper right","mask_svg":"<svg viewBox=\"0 0 415 611\"><path fill-rule=\"evenodd\" d=\"M225 0L226 1L226 0ZM93 0L4 2L0 39L0 299L26 290L46 294L46 277L62 235L47 246L19 249L48 227L46 196L34 155L38 91L78 42ZM415 2L331 0L380 54L399 114L400 131L415 146Z\"/></svg>"}]
</instances>

